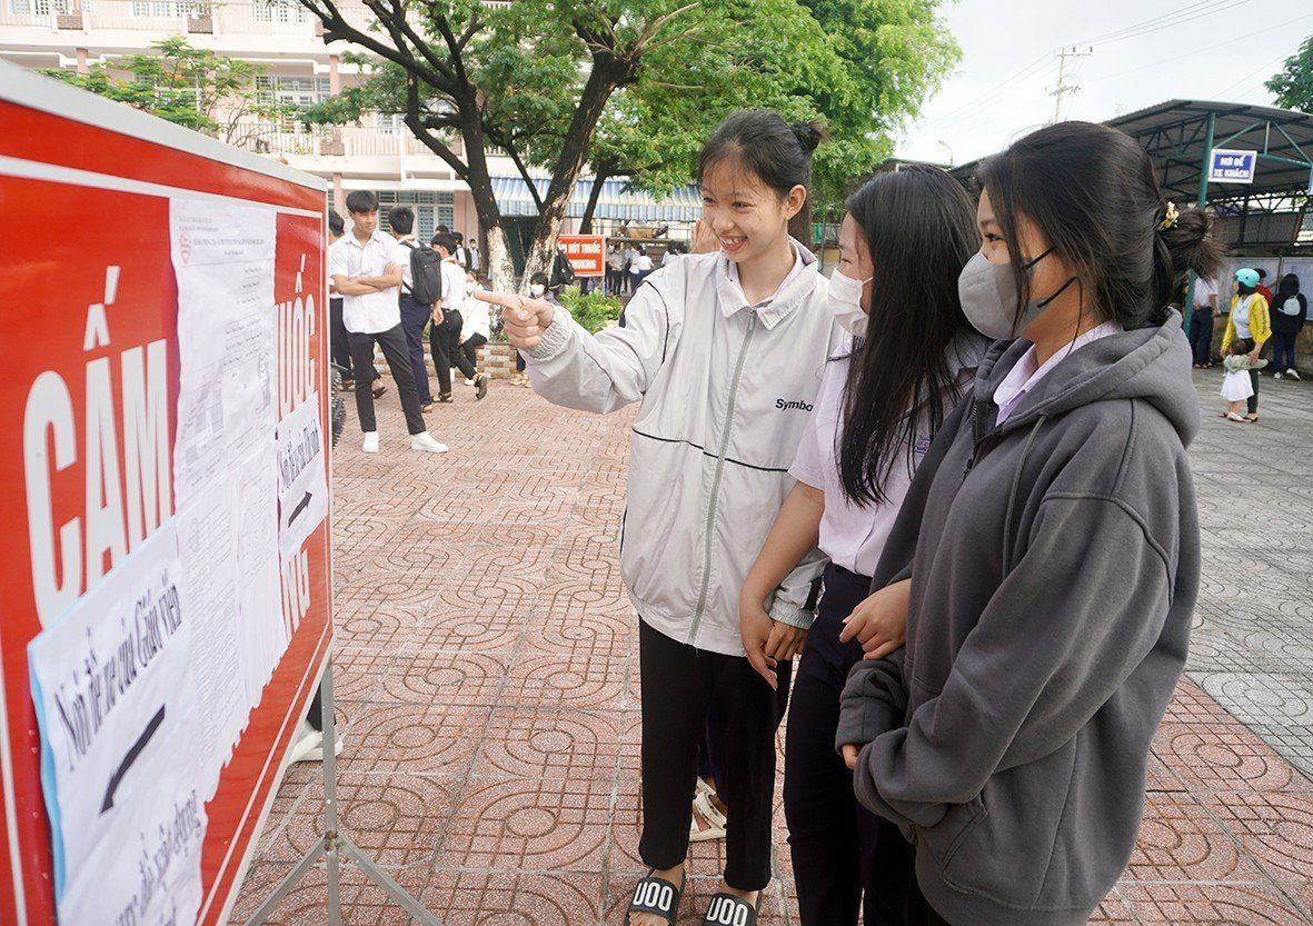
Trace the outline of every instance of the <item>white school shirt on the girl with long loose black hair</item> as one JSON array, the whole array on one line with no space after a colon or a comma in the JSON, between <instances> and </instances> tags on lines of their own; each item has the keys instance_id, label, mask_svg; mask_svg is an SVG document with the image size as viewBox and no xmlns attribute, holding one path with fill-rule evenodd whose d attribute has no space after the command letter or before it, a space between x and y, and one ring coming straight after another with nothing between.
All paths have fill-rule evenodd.
<instances>
[{"instance_id":1,"label":"white school shirt on the girl with long loose black hair","mask_svg":"<svg viewBox=\"0 0 1313 926\"><path fill-rule=\"evenodd\" d=\"M976 334L961 334L945 349L958 389L965 393L976 376L989 342ZM855 504L843 494L839 478L839 443L843 437L843 393L852 368L853 343L850 339L840 355L826 364L817 395L815 410L798 453L789 468L789 475L825 493L825 514L821 518L821 552L834 565L857 575L873 575L880 553L898 518L907 487L916 466L930 449L935 435L928 423L914 433L911 457L906 448L898 448L898 458L884 485L885 502Z\"/></svg>"}]
</instances>

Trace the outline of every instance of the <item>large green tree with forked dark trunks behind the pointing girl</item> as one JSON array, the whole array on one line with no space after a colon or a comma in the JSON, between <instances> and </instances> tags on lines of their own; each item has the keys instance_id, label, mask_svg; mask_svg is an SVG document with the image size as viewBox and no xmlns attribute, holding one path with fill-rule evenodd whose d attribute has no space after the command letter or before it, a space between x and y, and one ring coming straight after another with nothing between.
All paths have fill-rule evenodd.
<instances>
[{"instance_id":1,"label":"large green tree with forked dark trunks behind the pointing girl","mask_svg":"<svg viewBox=\"0 0 1313 926\"><path fill-rule=\"evenodd\" d=\"M348 21L334 0L301 3L323 22L326 42L345 39L383 62L307 118L403 114L469 184L500 288L512 284L512 269L487 164L496 150L527 181L532 167L550 171L546 192L528 183L538 219L527 269L545 271L586 164L599 177L668 188L689 179L699 146L726 112L765 105L842 127L818 171L834 164L838 176L859 162L865 169L886 150L886 127L915 112L956 55L932 0L829 4L823 16L856 11L874 30L872 49L851 46L851 60L835 51L823 16L797 0L365 0L370 25ZM898 35L905 11L919 17L914 38ZM927 33L915 59L922 71L909 81L892 62ZM885 83L861 85L872 74Z\"/></svg>"}]
</instances>

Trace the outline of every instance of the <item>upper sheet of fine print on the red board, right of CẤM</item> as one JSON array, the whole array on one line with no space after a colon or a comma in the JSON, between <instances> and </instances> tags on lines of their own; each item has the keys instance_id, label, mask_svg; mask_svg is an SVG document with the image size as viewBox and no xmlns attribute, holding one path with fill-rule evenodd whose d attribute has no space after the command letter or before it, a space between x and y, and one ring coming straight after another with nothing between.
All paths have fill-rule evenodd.
<instances>
[{"instance_id":1,"label":"upper sheet of fine print on the red board, right of C\u1ea4M","mask_svg":"<svg viewBox=\"0 0 1313 926\"><path fill-rule=\"evenodd\" d=\"M169 202L181 356L177 510L273 436L274 232L268 209Z\"/></svg>"}]
</instances>

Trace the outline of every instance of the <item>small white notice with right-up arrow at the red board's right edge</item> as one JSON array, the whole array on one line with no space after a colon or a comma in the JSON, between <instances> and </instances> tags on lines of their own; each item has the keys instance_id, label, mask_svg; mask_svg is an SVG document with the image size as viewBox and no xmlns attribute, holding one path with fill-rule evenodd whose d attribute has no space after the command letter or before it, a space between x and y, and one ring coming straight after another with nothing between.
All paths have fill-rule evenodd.
<instances>
[{"instance_id":1,"label":"small white notice with right-up arrow at the red board's right edge","mask_svg":"<svg viewBox=\"0 0 1313 926\"><path fill-rule=\"evenodd\" d=\"M278 546L282 562L295 556L306 537L328 516L324 435L319 427L319 393L278 422Z\"/></svg>"}]
</instances>

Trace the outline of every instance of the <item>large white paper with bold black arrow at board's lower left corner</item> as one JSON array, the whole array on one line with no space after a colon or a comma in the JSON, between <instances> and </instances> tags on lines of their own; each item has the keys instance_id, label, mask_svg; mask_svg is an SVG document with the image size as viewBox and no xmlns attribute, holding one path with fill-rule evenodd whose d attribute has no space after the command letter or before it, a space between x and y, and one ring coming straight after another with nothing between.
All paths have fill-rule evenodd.
<instances>
[{"instance_id":1,"label":"large white paper with bold black arrow at board's lower left corner","mask_svg":"<svg viewBox=\"0 0 1313 926\"><path fill-rule=\"evenodd\" d=\"M197 793L192 616L173 521L29 644L60 923L192 923Z\"/></svg>"}]
</instances>

